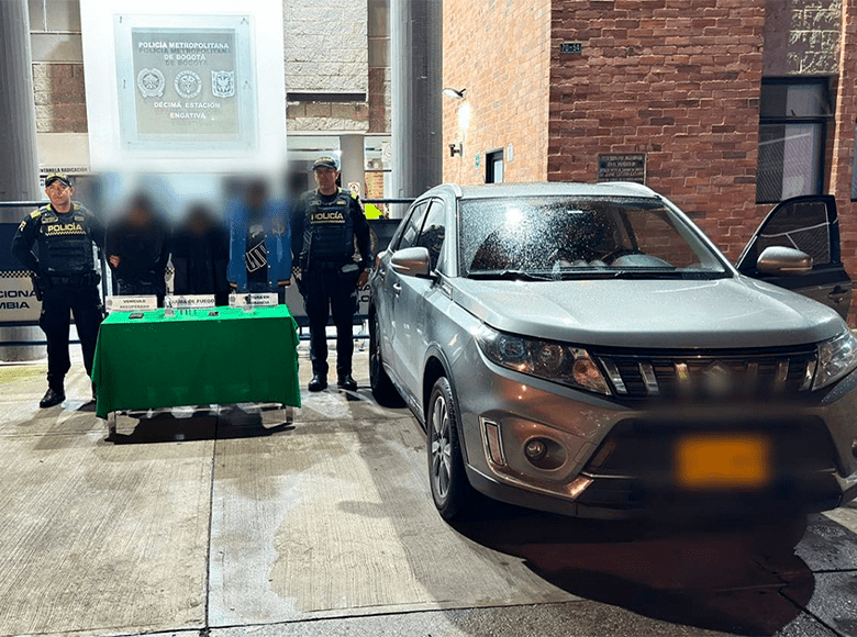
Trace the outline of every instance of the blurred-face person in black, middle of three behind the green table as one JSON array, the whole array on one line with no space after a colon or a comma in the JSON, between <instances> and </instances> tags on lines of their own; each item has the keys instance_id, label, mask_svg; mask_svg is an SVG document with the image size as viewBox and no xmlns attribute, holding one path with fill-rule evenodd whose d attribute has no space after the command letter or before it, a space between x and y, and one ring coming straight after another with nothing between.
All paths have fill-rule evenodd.
<instances>
[{"instance_id":1,"label":"blurred-face person in black, middle of three behind the green table","mask_svg":"<svg viewBox=\"0 0 857 637\"><path fill-rule=\"evenodd\" d=\"M172 289L176 294L214 294L218 305L229 304L230 235L203 204L191 206L172 235Z\"/></svg>"}]
</instances>

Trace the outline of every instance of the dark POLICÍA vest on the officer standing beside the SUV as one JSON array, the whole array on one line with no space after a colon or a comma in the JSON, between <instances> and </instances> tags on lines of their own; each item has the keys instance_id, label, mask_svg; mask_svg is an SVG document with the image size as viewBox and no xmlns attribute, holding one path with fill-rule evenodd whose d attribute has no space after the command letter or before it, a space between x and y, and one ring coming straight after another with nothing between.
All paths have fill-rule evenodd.
<instances>
[{"instance_id":1,"label":"dark POLIC\u00cdA vest on the officer standing beside the SUV","mask_svg":"<svg viewBox=\"0 0 857 637\"><path fill-rule=\"evenodd\" d=\"M354 219L350 214L350 193L342 188L330 203L324 203L318 191L307 194L303 249L309 250L310 268L318 261L352 260Z\"/></svg>"}]
</instances>

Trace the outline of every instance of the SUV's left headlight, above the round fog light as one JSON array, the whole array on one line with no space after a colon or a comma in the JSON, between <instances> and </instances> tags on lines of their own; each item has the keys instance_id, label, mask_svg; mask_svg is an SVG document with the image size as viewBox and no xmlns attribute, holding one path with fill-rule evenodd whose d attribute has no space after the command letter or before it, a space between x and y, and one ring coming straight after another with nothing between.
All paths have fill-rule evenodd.
<instances>
[{"instance_id":1,"label":"SUV's left headlight, above the round fog light","mask_svg":"<svg viewBox=\"0 0 857 637\"><path fill-rule=\"evenodd\" d=\"M586 349L553 340L503 334L482 325L476 335L482 353L501 367L610 395L598 364Z\"/></svg>"}]
</instances>

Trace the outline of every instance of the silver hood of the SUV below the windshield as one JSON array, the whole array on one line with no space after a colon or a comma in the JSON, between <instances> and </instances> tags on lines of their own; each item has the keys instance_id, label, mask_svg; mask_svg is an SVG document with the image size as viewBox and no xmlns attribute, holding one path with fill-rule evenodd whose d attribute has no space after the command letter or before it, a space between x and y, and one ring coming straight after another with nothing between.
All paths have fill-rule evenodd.
<instances>
[{"instance_id":1,"label":"silver hood of the SUV below the windshield","mask_svg":"<svg viewBox=\"0 0 857 637\"><path fill-rule=\"evenodd\" d=\"M817 343L847 329L821 303L743 276L448 282L453 300L496 329L579 345L781 347Z\"/></svg>"}]
</instances>

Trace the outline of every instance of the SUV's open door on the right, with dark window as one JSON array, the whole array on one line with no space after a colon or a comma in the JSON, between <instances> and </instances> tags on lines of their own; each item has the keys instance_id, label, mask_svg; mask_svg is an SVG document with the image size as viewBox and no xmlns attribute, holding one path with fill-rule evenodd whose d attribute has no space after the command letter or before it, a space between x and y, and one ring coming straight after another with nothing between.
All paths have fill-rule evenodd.
<instances>
[{"instance_id":1,"label":"SUV's open door on the right, with dark window","mask_svg":"<svg viewBox=\"0 0 857 637\"><path fill-rule=\"evenodd\" d=\"M812 257L805 273L760 273L756 266L768 246L795 248ZM795 197L770 211L738 258L743 275L810 297L836 310L843 318L852 303L852 279L839 256L836 200L830 194Z\"/></svg>"}]
</instances>

